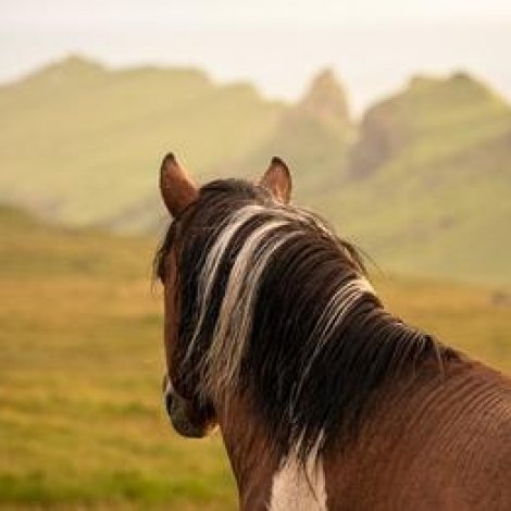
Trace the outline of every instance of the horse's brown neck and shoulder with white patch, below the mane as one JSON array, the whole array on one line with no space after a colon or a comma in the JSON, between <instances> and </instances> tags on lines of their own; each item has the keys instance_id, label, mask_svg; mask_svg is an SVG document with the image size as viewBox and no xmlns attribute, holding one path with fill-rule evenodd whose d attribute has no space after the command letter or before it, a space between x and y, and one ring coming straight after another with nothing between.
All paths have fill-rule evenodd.
<instances>
[{"instance_id":1,"label":"horse's brown neck and shoulder with white patch, below the mane","mask_svg":"<svg viewBox=\"0 0 511 511\"><path fill-rule=\"evenodd\" d=\"M508 429L511 424L509 382L484 366L457 362L446 367L445 376L421 376L411 386L396 384L389 390L378 397L358 439L327 452L307 473L292 456L278 459L271 432L249 402L229 402L220 422L240 509L400 509L400 503L406 509L408 499L422 495L444 499L438 508L447 509L457 504L456 491L464 491L464 485L481 487L475 495L482 498L482 485L494 484L499 475L491 474L494 482L471 475L472 463L481 465L479 456L486 460L502 458L506 449L510 453L509 438L499 446L495 436L496 423L507 422ZM469 475L454 474L460 463L468 465ZM444 496L445 481L454 479L456 495Z\"/></svg>"}]
</instances>

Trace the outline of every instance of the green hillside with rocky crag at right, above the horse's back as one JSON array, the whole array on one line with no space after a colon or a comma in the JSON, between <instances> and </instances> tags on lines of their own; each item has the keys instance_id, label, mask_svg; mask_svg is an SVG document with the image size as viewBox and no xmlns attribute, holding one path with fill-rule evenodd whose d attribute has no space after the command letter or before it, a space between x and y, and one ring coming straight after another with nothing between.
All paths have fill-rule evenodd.
<instances>
[{"instance_id":1,"label":"green hillside with rocky crag at right, above the horse's back","mask_svg":"<svg viewBox=\"0 0 511 511\"><path fill-rule=\"evenodd\" d=\"M371 109L326 212L388 270L511 282L511 109L466 75Z\"/></svg>"}]
</instances>

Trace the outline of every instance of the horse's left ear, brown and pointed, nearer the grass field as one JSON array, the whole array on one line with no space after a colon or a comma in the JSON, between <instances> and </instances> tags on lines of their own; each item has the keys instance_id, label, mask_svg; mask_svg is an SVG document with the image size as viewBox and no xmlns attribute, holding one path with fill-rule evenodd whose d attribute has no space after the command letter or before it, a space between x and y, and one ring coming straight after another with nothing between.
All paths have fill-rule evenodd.
<instances>
[{"instance_id":1,"label":"horse's left ear, brown and pointed, nearer the grass field","mask_svg":"<svg viewBox=\"0 0 511 511\"><path fill-rule=\"evenodd\" d=\"M199 195L172 152L163 159L160 167L160 191L172 216L177 216Z\"/></svg>"}]
</instances>

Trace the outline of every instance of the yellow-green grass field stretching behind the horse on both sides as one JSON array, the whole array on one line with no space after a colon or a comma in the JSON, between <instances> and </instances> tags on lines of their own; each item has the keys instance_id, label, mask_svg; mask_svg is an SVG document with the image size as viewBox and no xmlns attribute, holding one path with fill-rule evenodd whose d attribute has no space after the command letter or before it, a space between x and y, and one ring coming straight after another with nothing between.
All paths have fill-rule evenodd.
<instances>
[{"instance_id":1,"label":"yellow-green grass field stretching behind the horse on both sides","mask_svg":"<svg viewBox=\"0 0 511 511\"><path fill-rule=\"evenodd\" d=\"M0 210L0 508L236 509L219 436L184 440L160 402L155 239ZM388 307L511 372L506 290L375 276Z\"/></svg>"}]
</instances>

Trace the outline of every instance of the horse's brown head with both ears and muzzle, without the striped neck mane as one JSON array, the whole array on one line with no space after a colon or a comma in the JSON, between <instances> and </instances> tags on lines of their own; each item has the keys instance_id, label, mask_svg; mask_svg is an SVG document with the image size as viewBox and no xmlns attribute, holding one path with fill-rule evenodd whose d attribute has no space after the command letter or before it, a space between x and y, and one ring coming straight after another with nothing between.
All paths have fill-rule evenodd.
<instances>
[{"instance_id":1,"label":"horse's brown head with both ears and muzzle, without the striped neck mane","mask_svg":"<svg viewBox=\"0 0 511 511\"><path fill-rule=\"evenodd\" d=\"M221 187L220 183L217 187ZM210 185L210 189L214 188L215 183ZM274 158L258 185L232 182L232 186L221 190L221 200L216 201L215 208L211 208L208 186L197 188L174 155L167 154L161 165L160 190L172 217L157 269L164 286L165 406L179 434L202 437L216 423L217 396L204 390L208 388L201 382L204 367L199 360L200 350L205 348L203 339L191 332L197 332L197 322L203 323L199 331L207 332L211 321L200 317L200 295L205 290L198 286L197 273L203 269L216 224L228 211L236 204L287 203L291 180L286 164ZM184 251L186 263L182 257Z\"/></svg>"}]
</instances>

